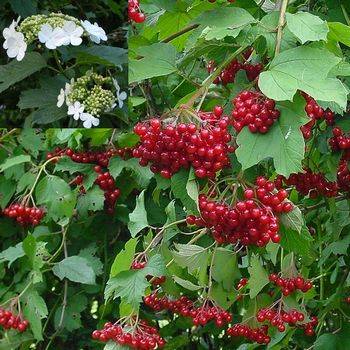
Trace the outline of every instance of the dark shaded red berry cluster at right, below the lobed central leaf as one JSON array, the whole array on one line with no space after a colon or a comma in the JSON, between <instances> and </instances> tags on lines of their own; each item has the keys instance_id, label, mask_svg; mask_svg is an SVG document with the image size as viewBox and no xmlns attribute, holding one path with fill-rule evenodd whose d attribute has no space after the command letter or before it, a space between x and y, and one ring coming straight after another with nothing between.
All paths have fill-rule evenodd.
<instances>
[{"instance_id":1,"label":"dark shaded red berry cluster at right, below the lobed central leaf","mask_svg":"<svg viewBox=\"0 0 350 350\"><path fill-rule=\"evenodd\" d=\"M285 178L278 175L275 180L277 188L284 184L294 186L303 196L317 198L318 196L335 197L338 194L338 185L336 182L328 181L324 174L313 173L310 169L305 169L304 173L296 173Z\"/></svg>"}]
</instances>

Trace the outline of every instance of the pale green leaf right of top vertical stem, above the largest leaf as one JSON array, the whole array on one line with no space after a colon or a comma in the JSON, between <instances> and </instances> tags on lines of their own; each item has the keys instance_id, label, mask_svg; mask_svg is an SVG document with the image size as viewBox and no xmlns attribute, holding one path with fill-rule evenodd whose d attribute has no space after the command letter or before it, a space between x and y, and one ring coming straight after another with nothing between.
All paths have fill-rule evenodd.
<instances>
[{"instance_id":1,"label":"pale green leaf right of top vertical stem, above the largest leaf","mask_svg":"<svg viewBox=\"0 0 350 350\"><path fill-rule=\"evenodd\" d=\"M288 29L302 44L307 41L327 40L327 22L308 12L286 13Z\"/></svg>"}]
</instances>

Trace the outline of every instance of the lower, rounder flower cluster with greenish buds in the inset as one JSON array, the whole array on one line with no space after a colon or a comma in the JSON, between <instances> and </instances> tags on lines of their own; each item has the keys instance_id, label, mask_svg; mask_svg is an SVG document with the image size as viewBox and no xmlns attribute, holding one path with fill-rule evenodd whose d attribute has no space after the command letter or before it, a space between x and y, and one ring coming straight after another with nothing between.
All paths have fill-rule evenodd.
<instances>
[{"instance_id":1,"label":"lower, rounder flower cluster with greenish buds in the inset","mask_svg":"<svg viewBox=\"0 0 350 350\"><path fill-rule=\"evenodd\" d=\"M87 72L84 76L66 83L57 98L57 107L66 103L68 115L81 120L84 128L100 124L100 115L111 111L118 103L123 107L127 94L121 91L116 79Z\"/></svg>"}]
</instances>

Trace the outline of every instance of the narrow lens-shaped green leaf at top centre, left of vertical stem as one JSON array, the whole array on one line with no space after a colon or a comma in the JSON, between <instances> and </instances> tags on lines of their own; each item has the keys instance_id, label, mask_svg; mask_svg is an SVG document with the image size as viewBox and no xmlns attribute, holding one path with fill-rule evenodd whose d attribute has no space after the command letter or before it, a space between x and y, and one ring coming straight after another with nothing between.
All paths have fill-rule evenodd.
<instances>
[{"instance_id":1,"label":"narrow lens-shaped green leaf at top centre, left of vertical stem","mask_svg":"<svg viewBox=\"0 0 350 350\"><path fill-rule=\"evenodd\" d=\"M250 23L255 23L255 18L246 10L239 7L220 7L207 11L192 21L208 27L239 28Z\"/></svg>"}]
</instances>

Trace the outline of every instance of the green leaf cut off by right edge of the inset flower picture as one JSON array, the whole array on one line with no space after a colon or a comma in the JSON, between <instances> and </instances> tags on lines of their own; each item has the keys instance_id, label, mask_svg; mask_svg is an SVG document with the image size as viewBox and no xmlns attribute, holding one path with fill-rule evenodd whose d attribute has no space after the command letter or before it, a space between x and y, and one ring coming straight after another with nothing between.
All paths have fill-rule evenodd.
<instances>
[{"instance_id":1,"label":"green leaf cut off by right edge of the inset flower picture","mask_svg":"<svg viewBox=\"0 0 350 350\"><path fill-rule=\"evenodd\" d=\"M140 59L129 60L129 82L160 77L176 72L176 49L171 44L156 43L137 50ZM150 64L152 62L152 64Z\"/></svg>"}]
</instances>

